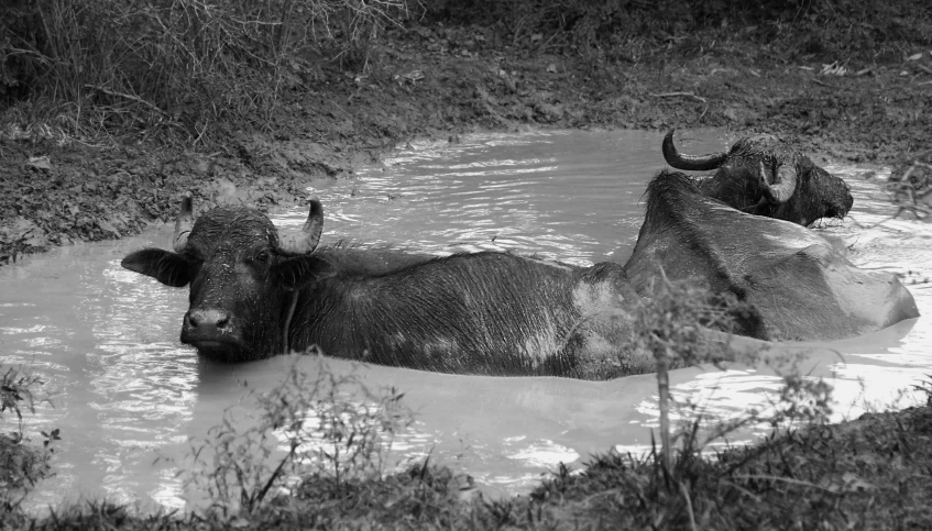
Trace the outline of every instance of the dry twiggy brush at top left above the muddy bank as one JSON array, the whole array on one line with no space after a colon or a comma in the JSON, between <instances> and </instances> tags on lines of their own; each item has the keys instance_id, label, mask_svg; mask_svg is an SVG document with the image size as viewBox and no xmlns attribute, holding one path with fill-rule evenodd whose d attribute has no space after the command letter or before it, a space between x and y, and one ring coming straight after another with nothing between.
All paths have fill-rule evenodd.
<instances>
[{"instance_id":1,"label":"dry twiggy brush at top left above the muddy bank","mask_svg":"<svg viewBox=\"0 0 932 531\"><path fill-rule=\"evenodd\" d=\"M319 62L365 66L406 2L13 0L0 7L0 96L91 114L75 129L202 141L218 119L267 119Z\"/></svg>"}]
</instances>

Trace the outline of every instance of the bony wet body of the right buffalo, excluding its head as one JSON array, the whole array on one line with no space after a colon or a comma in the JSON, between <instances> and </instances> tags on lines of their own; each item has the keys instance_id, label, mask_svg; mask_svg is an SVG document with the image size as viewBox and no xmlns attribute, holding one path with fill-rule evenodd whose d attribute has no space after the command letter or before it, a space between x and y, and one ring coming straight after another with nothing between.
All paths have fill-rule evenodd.
<instances>
[{"instance_id":1,"label":"bony wet body of the right buffalo, excluding its head","mask_svg":"<svg viewBox=\"0 0 932 531\"><path fill-rule=\"evenodd\" d=\"M750 303L760 322L737 333L763 340L851 338L919 316L892 274L858 269L812 231L739 212L678 172L648 185L625 273L645 292L658 265L670 279L695 278Z\"/></svg>"}]
</instances>

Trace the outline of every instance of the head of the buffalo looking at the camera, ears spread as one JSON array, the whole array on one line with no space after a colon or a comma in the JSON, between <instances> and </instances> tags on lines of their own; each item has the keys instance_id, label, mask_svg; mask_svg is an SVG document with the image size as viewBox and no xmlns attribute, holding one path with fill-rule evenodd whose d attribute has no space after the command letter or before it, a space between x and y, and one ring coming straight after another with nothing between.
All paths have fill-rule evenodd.
<instances>
[{"instance_id":1,"label":"head of the buffalo looking at the camera, ears spread","mask_svg":"<svg viewBox=\"0 0 932 531\"><path fill-rule=\"evenodd\" d=\"M279 237L267 217L244 207L218 207L195 221L186 195L174 252L145 248L121 265L167 286L190 285L183 343L222 361L255 359L287 351L297 290L330 274L329 264L311 254L322 226L317 199L301 231Z\"/></svg>"}]
</instances>

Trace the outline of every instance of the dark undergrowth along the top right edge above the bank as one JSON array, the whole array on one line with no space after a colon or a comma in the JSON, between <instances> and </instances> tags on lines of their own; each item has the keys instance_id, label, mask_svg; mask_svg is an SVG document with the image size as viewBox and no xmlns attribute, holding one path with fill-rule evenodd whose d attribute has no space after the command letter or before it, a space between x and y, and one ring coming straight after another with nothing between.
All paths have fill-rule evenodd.
<instances>
[{"instance_id":1,"label":"dark undergrowth along the top right edge above the bank","mask_svg":"<svg viewBox=\"0 0 932 531\"><path fill-rule=\"evenodd\" d=\"M932 42L932 9L911 0L436 0L426 13L497 27L513 45L534 51L633 63L644 42L666 47L706 27L721 29L716 41L747 31L747 38L763 44L780 41L802 53L833 48L870 59L897 41Z\"/></svg>"}]
</instances>

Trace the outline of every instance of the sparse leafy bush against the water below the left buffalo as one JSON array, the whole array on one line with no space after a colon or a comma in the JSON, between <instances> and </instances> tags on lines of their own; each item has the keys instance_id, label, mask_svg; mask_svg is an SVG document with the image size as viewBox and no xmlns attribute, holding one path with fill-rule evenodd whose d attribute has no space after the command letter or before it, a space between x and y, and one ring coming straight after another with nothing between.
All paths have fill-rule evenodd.
<instances>
[{"instance_id":1,"label":"sparse leafy bush against the water below the left buffalo","mask_svg":"<svg viewBox=\"0 0 932 531\"><path fill-rule=\"evenodd\" d=\"M215 508L253 512L298 477L326 478L335 497L359 482L379 480L384 452L413 413L395 389L374 392L353 375L338 376L322 357L309 374L294 365L282 384L257 395L257 416L227 411L205 441L193 443L186 483L206 491Z\"/></svg>"}]
</instances>

